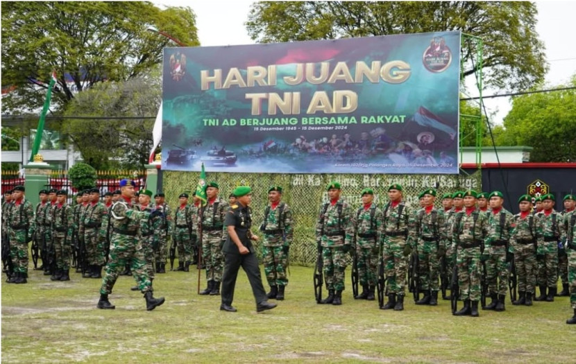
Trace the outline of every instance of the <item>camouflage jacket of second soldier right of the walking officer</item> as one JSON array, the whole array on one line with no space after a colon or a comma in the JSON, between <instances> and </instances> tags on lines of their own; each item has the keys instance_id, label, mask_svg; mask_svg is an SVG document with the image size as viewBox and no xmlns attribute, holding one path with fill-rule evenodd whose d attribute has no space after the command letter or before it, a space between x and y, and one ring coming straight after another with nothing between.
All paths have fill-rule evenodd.
<instances>
[{"instance_id":1,"label":"camouflage jacket of second soldier right of the walking officer","mask_svg":"<svg viewBox=\"0 0 576 364\"><path fill-rule=\"evenodd\" d=\"M316 221L316 242L323 247L352 244L354 234L352 207L340 199L336 204L325 202Z\"/></svg>"}]
</instances>

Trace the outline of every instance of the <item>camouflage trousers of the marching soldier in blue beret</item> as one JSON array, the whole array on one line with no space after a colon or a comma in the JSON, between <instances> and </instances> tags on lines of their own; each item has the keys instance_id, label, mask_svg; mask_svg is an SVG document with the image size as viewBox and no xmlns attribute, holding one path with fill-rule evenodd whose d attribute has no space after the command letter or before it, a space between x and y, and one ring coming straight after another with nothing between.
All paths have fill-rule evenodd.
<instances>
[{"instance_id":1,"label":"camouflage trousers of the marching soldier in blue beret","mask_svg":"<svg viewBox=\"0 0 576 364\"><path fill-rule=\"evenodd\" d=\"M146 271L144 249L136 236L113 233L110 238L110 260L105 267L100 293L109 295L118 279L119 273L124 270L126 263L130 264L132 277L142 293L152 291L152 284Z\"/></svg>"}]
</instances>

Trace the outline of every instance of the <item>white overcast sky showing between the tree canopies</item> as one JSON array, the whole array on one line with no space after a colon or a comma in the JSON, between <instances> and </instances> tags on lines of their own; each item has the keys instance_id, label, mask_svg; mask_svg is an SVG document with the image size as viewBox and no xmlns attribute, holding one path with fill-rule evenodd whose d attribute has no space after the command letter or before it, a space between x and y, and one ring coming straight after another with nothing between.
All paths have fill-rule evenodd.
<instances>
[{"instance_id":1,"label":"white overcast sky showing between the tree canopies","mask_svg":"<svg viewBox=\"0 0 576 364\"><path fill-rule=\"evenodd\" d=\"M244 22L248 19L251 3L255 1L235 0L160 0L152 1L158 6L189 6L196 13L198 38L202 46L226 46L254 44L248 36ZM576 47L569 35L573 29L576 1L536 1L538 23L536 31L545 44L546 59L550 70L545 76L549 87L568 83L576 73ZM568 42L566 42L568 40ZM518 55L521 56L521 55ZM487 89L484 95L501 94L497 89ZM471 93L475 96L474 93ZM511 98L486 98L484 105L491 121L502 123L511 109Z\"/></svg>"}]
</instances>

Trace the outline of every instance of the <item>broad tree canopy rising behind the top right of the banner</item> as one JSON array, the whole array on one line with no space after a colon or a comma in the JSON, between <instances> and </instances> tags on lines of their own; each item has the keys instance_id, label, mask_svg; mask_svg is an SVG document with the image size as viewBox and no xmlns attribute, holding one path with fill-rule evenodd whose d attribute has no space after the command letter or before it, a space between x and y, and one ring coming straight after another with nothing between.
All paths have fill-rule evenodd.
<instances>
[{"instance_id":1,"label":"broad tree canopy rising behind the top right of the banner","mask_svg":"<svg viewBox=\"0 0 576 364\"><path fill-rule=\"evenodd\" d=\"M527 89L548 69L536 6L508 1L259 1L246 28L257 42L462 31L484 41L484 85ZM474 72L471 49L461 53Z\"/></svg>"}]
</instances>

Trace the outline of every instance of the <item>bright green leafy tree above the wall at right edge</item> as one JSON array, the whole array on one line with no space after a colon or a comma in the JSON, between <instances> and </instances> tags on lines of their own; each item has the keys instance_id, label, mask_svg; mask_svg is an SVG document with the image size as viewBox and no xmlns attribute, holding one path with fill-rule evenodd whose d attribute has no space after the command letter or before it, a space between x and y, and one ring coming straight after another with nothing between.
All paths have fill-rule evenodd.
<instances>
[{"instance_id":1,"label":"bright green leafy tree above the wall at right edge","mask_svg":"<svg viewBox=\"0 0 576 364\"><path fill-rule=\"evenodd\" d=\"M576 87L576 75L561 87ZM575 162L575 130L574 89L528 94L513 99L503 128L495 130L495 142L497 146L532 146L531 162Z\"/></svg>"}]
</instances>

